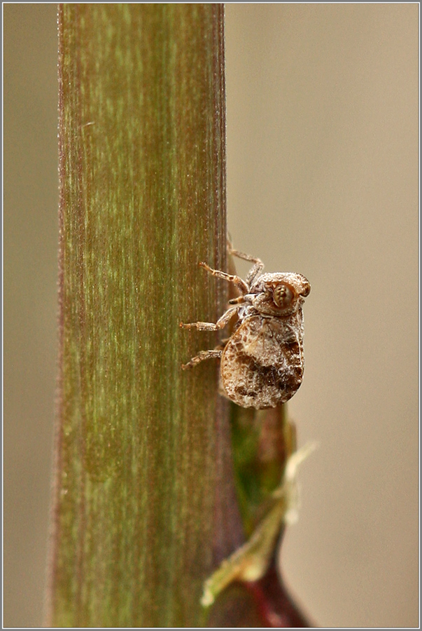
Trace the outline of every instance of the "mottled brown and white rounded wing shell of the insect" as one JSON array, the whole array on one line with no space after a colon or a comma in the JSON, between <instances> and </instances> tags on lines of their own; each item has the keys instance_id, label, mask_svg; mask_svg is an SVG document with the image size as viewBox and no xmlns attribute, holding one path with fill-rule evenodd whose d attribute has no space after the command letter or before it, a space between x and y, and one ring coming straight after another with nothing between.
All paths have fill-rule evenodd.
<instances>
[{"instance_id":1,"label":"mottled brown and white rounded wing shell of the insect","mask_svg":"<svg viewBox=\"0 0 422 631\"><path fill-rule=\"evenodd\" d=\"M302 384L303 372L302 308L284 318L244 318L221 357L221 386L241 407L286 403Z\"/></svg>"}]
</instances>

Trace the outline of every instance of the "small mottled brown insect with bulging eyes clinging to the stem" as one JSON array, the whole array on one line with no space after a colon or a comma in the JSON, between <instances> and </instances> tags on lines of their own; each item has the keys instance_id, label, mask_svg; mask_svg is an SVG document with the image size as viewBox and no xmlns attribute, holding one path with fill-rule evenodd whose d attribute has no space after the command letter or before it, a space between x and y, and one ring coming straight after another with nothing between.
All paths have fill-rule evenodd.
<instances>
[{"instance_id":1,"label":"small mottled brown insect with bulging eyes clinging to the stem","mask_svg":"<svg viewBox=\"0 0 422 631\"><path fill-rule=\"evenodd\" d=\"M246 279L199 263L237 287L239 296L216 323L181 323L185 329L218 331L237 315L232 335L212 351L201 351L183 369L220 358L220 390L241 407L276 407L293 397L304 372L302 304L308 280L293 272L262 273L264 264L243 252L229 253L253 263Z\"/></svg>"}]
</instances>

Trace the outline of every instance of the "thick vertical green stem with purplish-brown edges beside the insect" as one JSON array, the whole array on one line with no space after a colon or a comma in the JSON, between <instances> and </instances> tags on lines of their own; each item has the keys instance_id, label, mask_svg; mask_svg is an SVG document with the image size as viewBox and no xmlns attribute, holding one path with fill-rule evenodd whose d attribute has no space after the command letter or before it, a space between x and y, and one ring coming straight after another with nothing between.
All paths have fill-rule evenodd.
<instances>
[{"instance_id":1,"label":"thick vertical green stem with purplish-brown edges beside the insect","mask_svg":"<svg viewBox=\"0 0 422 631\"><path fill-rule=\"evenodd\" d=\"M59 386L47 623L203 623L243 541L214 334L223 6L59 8Z\"/></svg>"}]
</instances>

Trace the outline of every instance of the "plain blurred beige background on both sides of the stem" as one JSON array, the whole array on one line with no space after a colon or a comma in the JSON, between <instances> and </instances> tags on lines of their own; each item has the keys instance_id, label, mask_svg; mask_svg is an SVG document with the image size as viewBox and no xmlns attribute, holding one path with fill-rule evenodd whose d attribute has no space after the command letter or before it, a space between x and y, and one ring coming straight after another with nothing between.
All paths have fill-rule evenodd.
<instances>
[{"instance_id":1,"label":"plain blurred beige background on both sides of the stem","mask_svg":"<svg viewBox=\"0 0 422 631\"><path fill-rule=\"evenodd\" d=\"M229 229L300 271L300 521L320 626L418 624L418 5L227 6ZM57 41L4 6L4 624L41 624L55 395ZM239 265L239 269L244 268Z\"/></svg>"}]
</instances>

